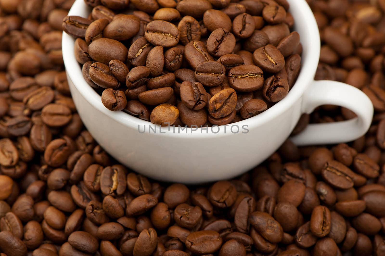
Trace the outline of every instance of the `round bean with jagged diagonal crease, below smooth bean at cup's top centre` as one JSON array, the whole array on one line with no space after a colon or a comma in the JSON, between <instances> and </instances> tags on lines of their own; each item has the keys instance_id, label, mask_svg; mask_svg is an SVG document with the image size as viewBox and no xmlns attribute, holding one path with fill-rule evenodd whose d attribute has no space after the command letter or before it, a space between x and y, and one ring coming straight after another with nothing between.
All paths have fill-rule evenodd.
<instances>
[{"instance_id":1,"label":"round bean with jagged diagonal crease, below smooth bean at cup's top centre","mask_svg":"<svg viewBox=\"0 0 385 256\"><path fill-rule=\"evenodd\" d=\"M206 45L207 50L211 55L221 57L233 52L235 47L235 37L229 30L218 28L211 33Z\"/></svg>"}]
</instances>

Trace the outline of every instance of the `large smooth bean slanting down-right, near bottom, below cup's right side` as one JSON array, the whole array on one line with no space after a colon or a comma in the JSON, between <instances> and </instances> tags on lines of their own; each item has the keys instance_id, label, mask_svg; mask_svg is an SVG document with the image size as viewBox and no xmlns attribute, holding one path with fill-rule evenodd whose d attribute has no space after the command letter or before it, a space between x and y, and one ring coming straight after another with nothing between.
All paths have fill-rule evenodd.
<instances>
[{"instance_id":1,"label":"large smooth bean slanting down-right, near bottom, below cup's right side","mask_svg":"<svg viewBox=\"0 0 385 256\"><path fill-rule=\"evenodd\" d=\"M271 243L279 243L282 241L282 226L269 214L255 211L250 215L249 221L264 239Z\"/></svg>"}]
</instances>

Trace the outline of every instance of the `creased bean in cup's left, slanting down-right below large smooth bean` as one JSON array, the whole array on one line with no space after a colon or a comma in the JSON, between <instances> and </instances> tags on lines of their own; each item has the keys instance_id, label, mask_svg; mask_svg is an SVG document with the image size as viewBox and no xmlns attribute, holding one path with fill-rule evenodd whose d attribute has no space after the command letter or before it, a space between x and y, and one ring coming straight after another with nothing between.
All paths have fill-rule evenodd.
<instances>
[{"instance_id":1,"label":"creased bean in cup's left, slanting down-right below large smooth bean","mask_svg":"<svg viewBox=\"0 0 385 256\"><path fill-rule=\"evenodd\" d=\"M90 65L89 76L91 80L102 88L117 89L121 84L111 72L109 66L95 62Z\"/></svg>"}]
</instances>

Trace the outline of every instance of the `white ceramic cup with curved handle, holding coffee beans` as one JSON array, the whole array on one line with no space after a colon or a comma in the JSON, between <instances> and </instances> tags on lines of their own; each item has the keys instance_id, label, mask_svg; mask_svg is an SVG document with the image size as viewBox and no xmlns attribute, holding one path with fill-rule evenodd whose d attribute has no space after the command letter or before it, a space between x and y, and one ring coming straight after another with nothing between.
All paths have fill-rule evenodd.
<instances>
[{"instance_id":1,"label":"white ceramic cup with curved handle, holding coffee beans","mask_svg":"<svg viewBox=\"0 0 385 256\"><path fill-rule=\"evenodd\" d=\"M202 130L162 128L123 111L107 110L87 84L74 57L74 38L63 33L67 78L77 111L95 140L115 159L150 178L187 184L230 179L258 165L288 138L301 114L332 104L357 118L308 125L292 137L297 145L352 141L369 128L373 105L357 88L336 81L314 81L320 56L318 27L305 0L288 0L303 45L302 68L288 95L252 118ZM76 0L69 15L88 17L90 8ZM156 129L156 133L150 130ZM141 133L146 127L146 132ZM239 127L239 132L237 131ZM139 128L139 129L138 129ZM226 131L225 131L226 128ZM230 130L232 128L232 130ZM139 132L139 130L141 132ZM218 133L217 133L218 131Z\"/></svg>"}]
</instances>

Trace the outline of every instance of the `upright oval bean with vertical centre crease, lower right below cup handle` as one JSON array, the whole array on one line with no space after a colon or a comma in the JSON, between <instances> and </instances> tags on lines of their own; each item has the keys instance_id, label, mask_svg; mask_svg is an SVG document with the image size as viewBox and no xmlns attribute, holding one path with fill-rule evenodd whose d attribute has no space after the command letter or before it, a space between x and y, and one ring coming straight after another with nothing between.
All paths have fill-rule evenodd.
<instances>
[{"instance_id":1,"label":"upright oval bean with vertical centre crease, lower right below cup handle","mask_svg":"<svg viewBox=\"0 0 385 256\"><path fill-rule=\"evenodd\" d=\"M330 232L330 211L325 206L316 206L311 213L310 230L316 237L324 237Z\"/></svg>"}]
</instances>

